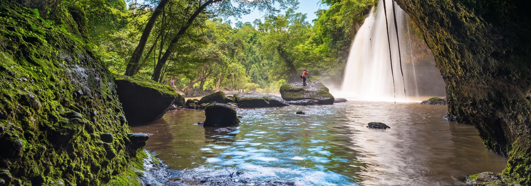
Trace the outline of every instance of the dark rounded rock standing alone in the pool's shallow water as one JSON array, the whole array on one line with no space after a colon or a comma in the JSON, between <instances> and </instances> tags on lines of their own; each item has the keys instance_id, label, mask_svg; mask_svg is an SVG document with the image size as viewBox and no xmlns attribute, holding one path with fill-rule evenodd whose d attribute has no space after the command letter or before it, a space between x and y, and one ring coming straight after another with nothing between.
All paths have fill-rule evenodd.
<instances>
[{"instance_id":1,"label":"dark rounded rock standing alone in the pool's shallow water","mask_svg":"<svg viewBox=\"0 0 531 186\"><path fill-rule=\"evenodd\" d=\"M233 126L239 124L236 109L226 104L210 104L204 109L204 127Z\"/></svg>"}]
</instances>

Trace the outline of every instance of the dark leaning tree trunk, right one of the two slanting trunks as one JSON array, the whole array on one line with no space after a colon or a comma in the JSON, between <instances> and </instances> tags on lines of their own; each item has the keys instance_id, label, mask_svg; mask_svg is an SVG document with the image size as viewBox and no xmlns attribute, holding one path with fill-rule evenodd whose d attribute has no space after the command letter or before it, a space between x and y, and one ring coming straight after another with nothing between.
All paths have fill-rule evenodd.
<instances>
[{"instance_id":1,"label":"dark leaning tree trunk, right one of the two slanting trunks","mask_svg":"<svg viewBox=\"0 0 531 186\"><path fill-rule=\"evenodd\" d=\"M166 64L166 61L168 61L168 58L169 56L173 53L173 50L175 48L175 45L177 44L177 42L181 39L181 37L184 35L184 33L186 32L186 30L192 25L193 21L195 20L195 18L197 18L197 16L204 10L207 8L208 5L212 4L212 3L216 3L216 2L220 2L222 0L208 0L207 2L205 2L204 4L202 4L198 10L196 10L194 12L194 14L192 14L192 16L188 19L188 21L184 24L184 26L179 30L179 32L177 32L177 34L175 35L175 37L172 39L172 41L170 41L169 45L168 45L168 48L166 49L166 52L164 53L164 55L162 55L162 57L160 58L160 60L157 62L157 65L155 66L155 70L153 70L153 75L151 76L151 79L153 80L157 80L159 79L160 77L160 71L162 70L162 66L164 66L164 64Z\"/></svg>"}]
</instances>

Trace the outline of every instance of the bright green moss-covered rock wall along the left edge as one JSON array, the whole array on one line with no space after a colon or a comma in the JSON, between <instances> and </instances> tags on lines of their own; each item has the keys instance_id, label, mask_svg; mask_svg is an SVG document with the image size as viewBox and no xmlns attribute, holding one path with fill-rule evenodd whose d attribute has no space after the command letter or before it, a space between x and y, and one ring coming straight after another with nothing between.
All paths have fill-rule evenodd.
<instances>
[{"instance_id":1,"label":"bright green moss-covered rock wall along the left edge","mask_svg":"<svg viewBox=\"0 0 531 186\"><path fill-rule=\"evenodd\" d=\"M129 170L131 131L84 30L83 12L67 1L0 0L5 185L101 185Z\"/></svg>"}]
</instances>

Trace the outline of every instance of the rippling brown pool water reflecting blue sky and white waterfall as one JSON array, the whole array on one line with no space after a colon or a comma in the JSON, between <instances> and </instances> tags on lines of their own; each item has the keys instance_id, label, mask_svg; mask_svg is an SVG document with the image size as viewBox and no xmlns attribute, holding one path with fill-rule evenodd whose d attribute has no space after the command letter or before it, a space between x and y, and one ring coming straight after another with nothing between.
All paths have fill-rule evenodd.
<instances>
[{"instance_id":1,"label":"rippling brown pool water reflecting blue sky and white waterfall","mask_svg":"<svg viewBox=\"0 0 531 186\"><path fill-rule=\"evenodd\" d=\"M304 111L307 115L296 115ZM446 106L351 101L327 106L238 109L234 132L196 125L203 111L170 111L134 132L182 180L229 175L295 185L463 185L500 172L472 125L442 119ZM383 122L387 130L366 128Z\"/></svg>"}]
</instances>

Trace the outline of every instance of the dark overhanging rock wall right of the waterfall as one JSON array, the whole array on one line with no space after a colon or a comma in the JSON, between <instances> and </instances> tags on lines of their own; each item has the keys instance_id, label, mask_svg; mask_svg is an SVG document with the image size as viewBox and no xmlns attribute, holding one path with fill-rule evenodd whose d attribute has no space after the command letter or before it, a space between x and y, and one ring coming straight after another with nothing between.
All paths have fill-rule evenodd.
<instances>
[{"instance_id":1,"label":"dark overhanging rock wall right of the waterfall","mask_svg":"<svg viewBox=\"0 0 531 186\"><path fill-rule=\"evenodd\" d=\"M503 171L531 185L531 9L516 0L398 0L446 82L448 118L469 122L509 156Z\"/></svg>"}]
</instances>

